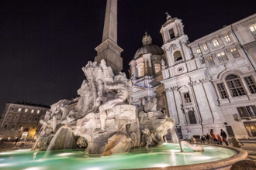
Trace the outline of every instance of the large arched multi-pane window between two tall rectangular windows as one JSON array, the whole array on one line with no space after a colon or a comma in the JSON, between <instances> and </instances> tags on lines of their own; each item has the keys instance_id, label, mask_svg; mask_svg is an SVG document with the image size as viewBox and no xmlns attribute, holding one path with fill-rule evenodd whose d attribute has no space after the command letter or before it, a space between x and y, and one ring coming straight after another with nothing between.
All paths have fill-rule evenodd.
<instances>
[{"instance_id":1,"label":"large arched multi-pane window between two tall rectangular windows","mask_svg":"<svg viewBox=\"0 0 256 170\"><path fill-rule=\"evenodd\" d=\"M245 95L244 87L240 83L240 78L234 74L226 77L227 86L230 89L232 97L239 97Z\"/></svg>"}]
</instances>

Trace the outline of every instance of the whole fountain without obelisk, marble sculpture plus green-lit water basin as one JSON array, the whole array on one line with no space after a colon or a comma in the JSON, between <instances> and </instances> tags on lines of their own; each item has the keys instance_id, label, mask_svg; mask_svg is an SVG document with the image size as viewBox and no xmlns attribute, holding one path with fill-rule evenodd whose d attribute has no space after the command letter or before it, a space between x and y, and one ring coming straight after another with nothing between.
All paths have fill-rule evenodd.
<instances>
[{"instance_id":1,"label":"whole fountain without obelisk, marble sculpture plus green-lit water basin","mask_svg":"<svg viewBox=\"0 0 256 170\"><path fill-rule=\"evenodd\" d=\"M104 60L88 62L82 70L87 80L76 107L69 100L52 105L32 151L0 153L0 168L229 169L247 157L238 148L164 143L169 129L175 141L175 122L157 110L154 97L137 109L124 73L114 76Z\"/></svg>"}]
</instances>

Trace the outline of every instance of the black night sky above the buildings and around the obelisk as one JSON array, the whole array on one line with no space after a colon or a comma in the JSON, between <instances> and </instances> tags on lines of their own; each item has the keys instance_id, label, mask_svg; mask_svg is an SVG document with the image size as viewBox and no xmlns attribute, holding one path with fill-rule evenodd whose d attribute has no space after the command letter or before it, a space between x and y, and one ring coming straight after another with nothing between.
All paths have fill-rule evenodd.
<instances>
[{"instance_id":1,"label":"black night sky above the buildings and around the obelisk","mask_svg":"<svg viewBox=\"0 0 256 170\"><path fill-rule=\"evenodd\" d=\"M118 45L123 71L147 31L157 46L171 17L182 19L190 42L255 10L255 0L119 0ZM54 104L77 97L81 70L102 42L106 0L0 0L0 114L5 103Z\"/></svg>"}]
</instances>

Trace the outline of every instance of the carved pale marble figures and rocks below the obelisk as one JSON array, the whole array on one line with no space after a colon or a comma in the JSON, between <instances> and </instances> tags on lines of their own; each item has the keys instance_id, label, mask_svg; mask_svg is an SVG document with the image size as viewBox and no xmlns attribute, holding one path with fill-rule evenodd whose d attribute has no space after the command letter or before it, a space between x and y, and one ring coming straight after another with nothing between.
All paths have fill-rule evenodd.
<instances>
[{"instance_id":1,"label":"carved pale marble figures and rocks below the obelisk","mask_svg":"<svg viewBox=\"0 0 256 170\"><path fill-rule=\"evenodd\" d=\"M78 89L76 106L71 100L59 100L40 121L45 128L36 142L40 150L48 145L47 149L79 147L88 154L108 156L164 143L164 134L175 122L163 109L157 110L155 97L148 97L137 110L132 104L132 80L125 73L115 76L104 59L99 64L88 62L82 70L86 80Z\"/></svg>"}]
</instances>

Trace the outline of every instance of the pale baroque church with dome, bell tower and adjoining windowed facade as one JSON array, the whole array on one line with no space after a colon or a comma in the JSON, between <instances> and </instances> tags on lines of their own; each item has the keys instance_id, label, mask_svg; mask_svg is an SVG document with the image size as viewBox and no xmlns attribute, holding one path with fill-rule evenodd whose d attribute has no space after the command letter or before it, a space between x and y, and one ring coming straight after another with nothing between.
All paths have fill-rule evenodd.
<instances>
[{"instance_id":1,"label":"pale baroque church with dome, bell tower and adjoining windowed facade","mask_svg":"<svg viewBox=\"0 0 256 170\"><path fill-rule=\"evenodd\" d=\"M256 14L194 42L183 27L168 15L161 47L143 37L130 61L133 104L157 98L179 138L200 138L210 129L256 138Z\"/></svg>"}]
</instances>

